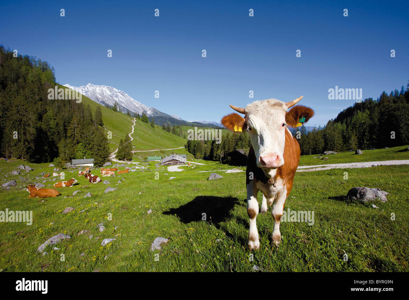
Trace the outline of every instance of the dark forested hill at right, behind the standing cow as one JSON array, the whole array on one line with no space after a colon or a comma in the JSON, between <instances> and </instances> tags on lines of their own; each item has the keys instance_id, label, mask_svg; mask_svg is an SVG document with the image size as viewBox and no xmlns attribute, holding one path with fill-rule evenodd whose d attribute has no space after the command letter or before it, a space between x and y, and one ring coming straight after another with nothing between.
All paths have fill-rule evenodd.
<instances>
[{"instance_id":1,"label":"dark forested hill at right, behind the standing cow","mask_svg":"<svg viewBox=\"0 0 409 300\"><path fill-rule=\"evenodd\" d=\"M389 95L383 92L377 100L355 103L324 128L307 133L301 127L292 131L294 136L296 131L302 155L409 144L409 84Z\"/></svg>"}]
</instances>

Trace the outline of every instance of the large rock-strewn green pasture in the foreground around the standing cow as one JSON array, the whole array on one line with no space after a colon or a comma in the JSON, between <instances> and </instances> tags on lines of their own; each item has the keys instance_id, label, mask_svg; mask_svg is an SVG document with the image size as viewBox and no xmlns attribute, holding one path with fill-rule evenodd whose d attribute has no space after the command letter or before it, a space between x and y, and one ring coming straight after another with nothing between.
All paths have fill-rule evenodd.
<instances>
[{"instance_id":1,"label":"large rock-strewn green pasture in the foreground around the standing cow","mask_svg":"<svg viewBox=\"0 0 409 300\"><path fill-rule=\"evenodd\" d=\"M31 210L33 224L0 223L3 271L251 271L254 264L263 271L409 271L408 165L347 169L348 180L343 179L345 169L298 172L285 209L315 211L315 224L282 222L282 242L276 249L271 246L269 208L257 217L260 250L249 252L245 172L216 171L223 178L212 181L207 180L209 172L197 172L231 166L205 162L195 169L169 172L162 166L156 170L156 162L150 162L146 165L151 171L104 178L111 182L110 187L118 187L116 191L104 194L107 185L90 184L81 177L75 187L58 189L63 196L81 190L76 196L40 202L42 199L27 198L28 192L19 187L41 182L32 178L52 168L29 164L35 170L23 182L20 176L8 174L21 163L0 160L1 183L18 182L17 187L0 191L0 210ZM159 173L157 180L155 172ZM78 178L75 173L73 177ZM169 180L171 176L176 179ZM117 186L119 179L123 183ZM89 188L82 188L84 184ZM374 209L372 203L344 199L349 189L360 186L389 192L389 201L375 201L379 209ZM91 198L83 198L87 192ZM258 199L261 204L261 193ZM75 210L61 214L66 207ZM88 210L79 212L85 208ZM149 215L148 209L153 211ZM111 221L107 220L109 213ZM206 221L202 213L207 214ZM391 220L391 213L396 220ZM106 227L102 233L97 229L99 223ZM83 229L90 233L77 236ZM40 244L58 233L67 233L71 239L57 244L60 250L48 247L46 256L36 253ZM159 236L170 240L153 253L151 243ZM101 247L103 238L117 240ZM60 260L62 253L65 261ZM249 260L250 253L254 261Z\"/></svg>"}]
</instances>

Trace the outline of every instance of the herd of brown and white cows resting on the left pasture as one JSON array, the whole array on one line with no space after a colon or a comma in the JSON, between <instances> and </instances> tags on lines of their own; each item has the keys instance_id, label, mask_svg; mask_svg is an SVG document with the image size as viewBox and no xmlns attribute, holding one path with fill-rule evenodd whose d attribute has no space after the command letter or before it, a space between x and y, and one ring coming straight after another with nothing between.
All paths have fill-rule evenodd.
<instances>
[{"instance_id":1,"label":"herd of brown and white cows resting on the left pasture","mask_svg":"<svg viewBox=\"0 0 409 300\"><path fill-rule=\"evenodd\" d=\"M101 168L101 174L102 176L112 176L115 175L115 171L118 171L118 168L112 168L112 169L104 169ZM125 169L122 171L118 171L117 174L123 174L123 173L129 173L129 169ZM62 174L58 174L54 172L52 176L61 176ZM44 175L45 178L49 177L50 173L47 173ZM85 168L85 171L79 171L78 172L78 177L84 176L85 179L88 179L90 183L98 183L101 182L101 178L98 175L94 175L91 173L91 170L89 167ZM60 181L56 182L53 184L54 187L72 187L74 184L76 184L78 180L75 178L71 178L70 180L66 181ZM46 188L40 188L40 187L35 187L33 184L29 184L27 186L26 191L30 193L28 196L29 198L48 198L48 197L57 197L60 196L61 193L58 192L56 189L46 189Z\"/></svg>"}]
</instances>

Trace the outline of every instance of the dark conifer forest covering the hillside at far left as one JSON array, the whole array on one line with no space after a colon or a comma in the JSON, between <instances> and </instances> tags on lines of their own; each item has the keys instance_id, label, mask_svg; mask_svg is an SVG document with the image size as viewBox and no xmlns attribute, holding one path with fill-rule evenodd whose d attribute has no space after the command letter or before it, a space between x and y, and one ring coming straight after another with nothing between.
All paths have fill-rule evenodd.
<instances>
[{"instance_id":1,"label":"dark conifer forest covering the hillside at far left","mask_svg":"<svg viewBox=\"0 0 409 300\"><path fill-rule=\"evenodd\" d=\"M0 156L30 162L86 156L102 164L110 149L101 108L93 116L75 99L49 99L56 86L47 62L0 47Z\"/></svg>"}]
</instances>

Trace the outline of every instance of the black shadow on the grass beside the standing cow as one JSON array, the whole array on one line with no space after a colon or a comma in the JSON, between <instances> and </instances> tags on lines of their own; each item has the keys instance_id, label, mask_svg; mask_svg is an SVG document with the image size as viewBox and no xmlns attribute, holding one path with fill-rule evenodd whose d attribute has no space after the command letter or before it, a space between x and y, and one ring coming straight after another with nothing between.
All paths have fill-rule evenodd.
<instances>
[{"instance_id":1,"label":"black shadow on the grass beside the standing cow","mask_svg":"<svg viewBox=\"0 0 409 300\"><path fill-rule=\"evenodd\" d=\"M220 228L221 222L232 217L231 211L236 204L239 204L239 200L233 197L197 196L192 201L163 213L176 215L185 224L205 220Z\"/></svg>"}]
</instances>

